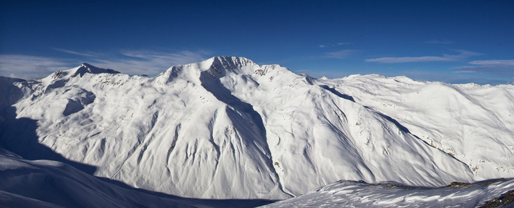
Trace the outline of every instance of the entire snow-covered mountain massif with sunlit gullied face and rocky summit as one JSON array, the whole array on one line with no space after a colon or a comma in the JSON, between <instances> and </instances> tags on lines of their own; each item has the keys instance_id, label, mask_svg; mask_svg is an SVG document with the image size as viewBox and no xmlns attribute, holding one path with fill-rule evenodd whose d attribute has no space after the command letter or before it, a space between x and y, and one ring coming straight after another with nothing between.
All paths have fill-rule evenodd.
<instances>
[{"instance_id":1,"label":"entire snow-covered mountain massif with sunlit gullied face and rocky summit","mask_svg":"<svg viewBox=\"0 0 514 208\"><path fill-rule=\"evenodd\" d=\"M1 145L193 198L299 196L337 180L439 187L514 176L514 87L314 79L214 57L129 76L89 64L1 79Z\"/></svg>"}]
</instances>

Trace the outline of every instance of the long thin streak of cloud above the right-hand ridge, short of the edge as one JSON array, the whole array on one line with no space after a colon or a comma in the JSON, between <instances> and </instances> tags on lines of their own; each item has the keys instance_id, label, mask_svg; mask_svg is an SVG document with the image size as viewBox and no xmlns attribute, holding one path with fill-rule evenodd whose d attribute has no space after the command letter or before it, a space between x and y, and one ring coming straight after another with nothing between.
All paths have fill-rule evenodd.
<instances>
[{"instance_id":1,"label":"long thin streak of cloud above the right-hand ridge, short of the edge","mask_svg":"<svg viewBox=\"0 0 514 208\"><path fill-rule=\"evenodd\" d=\"M382 58L370 58L366 59L366 62L379 62L379 63L407 63L407 62L452 62L459 61L465 58L469 58L474 55L482 55L472 51L465 50L452 50L456 51L457 54L443 54L442 56L405 56L405 57L382 57Z\"/></svg>"}]
</instances>

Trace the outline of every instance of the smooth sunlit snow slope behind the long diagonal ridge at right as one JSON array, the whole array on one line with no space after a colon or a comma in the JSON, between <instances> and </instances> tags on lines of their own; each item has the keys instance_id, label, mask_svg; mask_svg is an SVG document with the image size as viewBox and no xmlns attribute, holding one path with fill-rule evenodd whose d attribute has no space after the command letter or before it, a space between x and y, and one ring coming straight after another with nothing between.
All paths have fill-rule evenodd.
<instances>
[{"instance_id":1,"label":"smooth sunlit snow slope behind the long diagonal ridge at right","mask_svg":"<svg viewBox=\"0 0 514 208\"><path fill-rule=\"evenodd\" d=\"M513 85L449 85L377 75L318 81L454 155L470 166L476 180L514 175Z\"/></svg>"}]
</instances>

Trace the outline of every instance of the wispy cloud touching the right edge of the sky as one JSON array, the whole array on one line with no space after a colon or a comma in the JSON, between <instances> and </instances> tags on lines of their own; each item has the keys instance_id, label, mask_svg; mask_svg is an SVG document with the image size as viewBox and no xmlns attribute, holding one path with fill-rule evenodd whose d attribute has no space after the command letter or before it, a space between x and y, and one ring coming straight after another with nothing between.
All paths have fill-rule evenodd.
<instances>
[{"instance_id":1,"label":"wispy cloud touching the right edge of the sky","mask_svg":"<svg viewBox=\"0 0 514 208\"><path fill-rule=\"evenodd\" d=\"M497 76L514 76L514 60L474 60L468 66L453 67L461 69L454 73L491 73Z\"/></svg>"}]
</instances>

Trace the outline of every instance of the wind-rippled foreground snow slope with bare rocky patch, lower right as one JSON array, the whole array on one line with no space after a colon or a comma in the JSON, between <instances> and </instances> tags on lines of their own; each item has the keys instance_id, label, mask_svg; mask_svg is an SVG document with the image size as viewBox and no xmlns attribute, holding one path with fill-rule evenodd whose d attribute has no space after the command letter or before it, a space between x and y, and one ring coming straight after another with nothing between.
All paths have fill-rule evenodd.
<instances>
[{"instance_id":1,"label":"wind-rippled foreground snow slope with bare rocky patch, lower right","mask_svg":"<svg viewBox=\"0 0 514 208\"><path fill-rule=\"evenodd\" d=\"M512 207L514 180L405 187L341 180L305 195L264 207Z\"/></svg>"}]
</instances>

